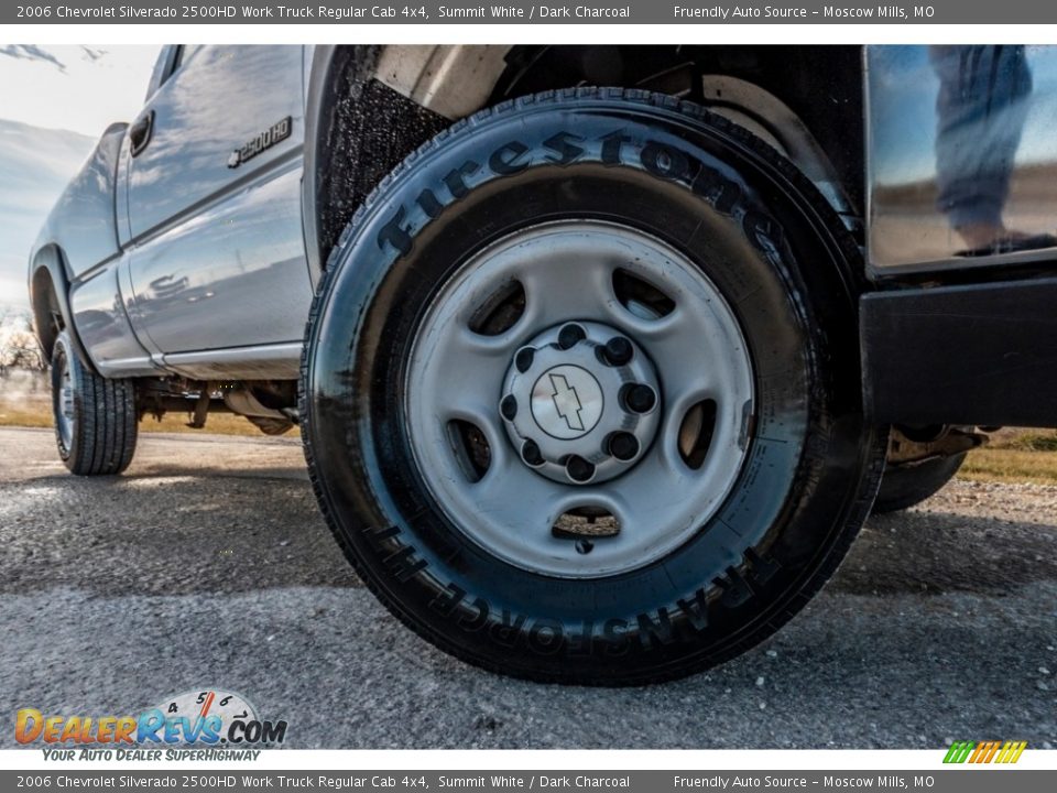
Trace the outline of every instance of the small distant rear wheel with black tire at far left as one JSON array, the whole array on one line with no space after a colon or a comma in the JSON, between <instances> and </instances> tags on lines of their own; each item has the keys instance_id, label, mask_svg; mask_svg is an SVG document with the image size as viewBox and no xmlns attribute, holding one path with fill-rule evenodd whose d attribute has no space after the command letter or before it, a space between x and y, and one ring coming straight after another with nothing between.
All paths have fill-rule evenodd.
<instances>
[{"instance_id":1,"label":"small distant rear wheel with black tire at far left","mask_svg":"<svg viewBox=\"0 0 1057 793\"><path fill-rule=\"evenodd\" d=\"M70 472L108 476L129 467L139 428L132 381L109 380L86 369L65 332L52 351L52 411L58 454Z\"/></svg>"}]
</instances>

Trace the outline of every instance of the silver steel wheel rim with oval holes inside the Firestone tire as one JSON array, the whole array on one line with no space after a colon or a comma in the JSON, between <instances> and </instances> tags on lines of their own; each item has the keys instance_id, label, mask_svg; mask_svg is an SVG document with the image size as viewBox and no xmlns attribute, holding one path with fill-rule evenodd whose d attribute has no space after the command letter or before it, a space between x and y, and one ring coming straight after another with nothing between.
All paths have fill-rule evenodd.
<instances>
[{"instance_id":1,"label":"silver steel wheel rim with oval holes inside the Firestone tire","mask_svg":"<svg viewBox=\"0 0 1057 793\"><path fill-rule=\"evenodd\" d=\"M467 261L418 327L404 400L447 518L510 564L574 578L693 536L741 470L752 405L747 345L711 281L595 220Z\"/></svg>"}]
</instances>

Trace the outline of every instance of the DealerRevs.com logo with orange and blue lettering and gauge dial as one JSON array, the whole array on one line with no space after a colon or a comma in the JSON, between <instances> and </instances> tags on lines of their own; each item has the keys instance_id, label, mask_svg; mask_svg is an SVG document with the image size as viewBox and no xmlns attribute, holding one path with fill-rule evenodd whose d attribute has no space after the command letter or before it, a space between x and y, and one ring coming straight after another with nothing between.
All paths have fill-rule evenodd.
<instances>
[{"instance_id":1,"label":"DealerRevs.com logo with orange and blue lettering and gauge dial","mask_svg":"<svg viewBox=\"0 0 1057 793\"><path fill-rule=\"evenodd\" d=\"M137 715L57 716L20 708L14 739L52 748L65 745L122 750L132 745L235 749L282 743L286 739L286 721L261 719L241 695L207 688L167 697Z\"/></svg>"}]
</instances>

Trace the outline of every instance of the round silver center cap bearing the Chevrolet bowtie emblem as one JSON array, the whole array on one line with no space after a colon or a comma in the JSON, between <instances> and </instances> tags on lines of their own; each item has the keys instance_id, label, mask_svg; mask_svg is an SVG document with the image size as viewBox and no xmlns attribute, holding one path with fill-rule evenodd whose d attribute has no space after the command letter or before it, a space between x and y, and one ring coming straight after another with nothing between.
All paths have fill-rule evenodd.
<instances>
[{"instance_id":1,"label":"round silver center cap bearing the Chevrolet bowtie emblem","mask_svg":"<svg viewBox=\"0 0 1057 793\"><path fill-rule=\"evenodd\" d=\"M564 363L540 376L532 387L531 405L532 417L543 432L574 441L598 426L606 397L587 369Z\"/></svg>"}]
</instances>

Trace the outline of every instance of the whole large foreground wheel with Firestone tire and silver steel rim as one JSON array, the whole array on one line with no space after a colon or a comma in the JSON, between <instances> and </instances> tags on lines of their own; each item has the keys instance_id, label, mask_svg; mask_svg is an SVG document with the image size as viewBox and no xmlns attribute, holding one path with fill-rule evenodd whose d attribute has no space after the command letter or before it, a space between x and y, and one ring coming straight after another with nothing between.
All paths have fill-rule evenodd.
<instances>
[{"instance_id":1,"label":"whole large foreground wheel with Firestone tire and silver steel rim","mask_svg":"<svg viewBox=\"0 0 1057 793\"><path fill-rule=\"evenodd\" d=\"M548 93L408 157L330 257L301 415L338 543L440 649L643 684L733 658L876 492L854 241L744 130Z\"/></svg>"}]
</instances>

